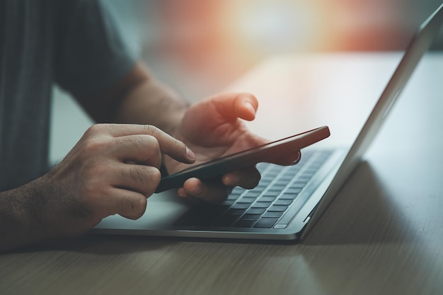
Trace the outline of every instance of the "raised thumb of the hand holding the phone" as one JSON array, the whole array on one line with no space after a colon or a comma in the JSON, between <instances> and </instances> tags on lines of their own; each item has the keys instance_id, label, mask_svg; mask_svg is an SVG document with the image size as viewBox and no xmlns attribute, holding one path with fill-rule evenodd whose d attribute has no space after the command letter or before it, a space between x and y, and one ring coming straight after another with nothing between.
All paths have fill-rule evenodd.
<instances>
[{"instance_id":1,"label":"raised thumb of the hand holding the phone","mask_svg":"<svg viewBox=\"0 0 443 295\"><path fill-rule=\"evenodd\" d=\"M212 98L223 117L252 121L258 109L258 100L251 93L222 93Z\"/></svg>"}]
</instances>

